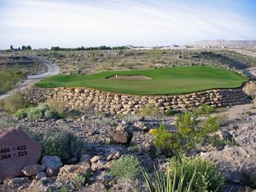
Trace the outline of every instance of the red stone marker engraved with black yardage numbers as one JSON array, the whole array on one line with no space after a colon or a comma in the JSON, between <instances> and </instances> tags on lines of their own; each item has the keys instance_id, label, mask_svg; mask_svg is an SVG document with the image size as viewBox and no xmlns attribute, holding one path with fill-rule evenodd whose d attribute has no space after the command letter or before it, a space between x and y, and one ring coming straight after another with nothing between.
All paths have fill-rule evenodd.
<instances>
[{"instance_id":1,"label":"red stone marker engraved with black yardage numbers","mask_svg":"<svg viewBox=\"0 0 256 192\"><path fill-rule=\"evenodd\" d=\"M36 164L40 155L41 146L19 126L0 132L0 182L21 176L21 169Z\"/></svg>"}]
</instances>

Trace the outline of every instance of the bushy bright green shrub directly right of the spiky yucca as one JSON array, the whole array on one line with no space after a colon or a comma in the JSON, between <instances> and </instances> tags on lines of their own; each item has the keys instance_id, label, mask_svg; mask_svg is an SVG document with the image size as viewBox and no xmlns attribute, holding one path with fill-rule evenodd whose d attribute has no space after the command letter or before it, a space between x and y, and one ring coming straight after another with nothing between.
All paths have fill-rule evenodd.
<instances>
[{"instance_id":1,"label":"bushy bright green shrub directly right of the spiky yucca","mask_svg":"<svg viewBox=\"0 0 256 192\"><path fill-rule=\"evenodd\" d=\"M183 177L185 183L189 183L192 177L195 177L191 185L192 191L218 191L224 185L224 177L221 176L217 166L200 157L172 158L171 170L177 172L177 179Z\"/></svg>"}]
</instances>

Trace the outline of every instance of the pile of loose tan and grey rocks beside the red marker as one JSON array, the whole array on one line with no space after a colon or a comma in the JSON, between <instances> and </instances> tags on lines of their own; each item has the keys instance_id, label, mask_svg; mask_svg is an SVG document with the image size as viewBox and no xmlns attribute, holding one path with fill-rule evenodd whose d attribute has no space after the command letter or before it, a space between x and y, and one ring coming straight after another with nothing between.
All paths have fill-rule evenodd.
<instances>
[{"instance_id":1,"label":"pile of loose tan and grey rocks beside the red marker","mask_svg":"<svg viewBox=\"0 0 256 192\"><path fill-rule=\"evenodd\" d=\"M111 181L110 176L106 175L106 171L109 170L111 160L118 160L121 155L119 150L113 148L108 153L100 156L90 157L90 154L84 154L76 164L65 166L62 166L59 157L45 155L41 164L25 166L21 170L22 177L6 179L3 181L3 185L9 186L10 189L15 189L15 191L31 191L35 188L37 188L37 191L54 191L60 189L61 186L76 189L76 177L87 175L90 176L90 179L86 183L90 183L88 189L91 189L95 184ZM104 185L95 188L106 189Z\"/></svg>"}]
</instances>

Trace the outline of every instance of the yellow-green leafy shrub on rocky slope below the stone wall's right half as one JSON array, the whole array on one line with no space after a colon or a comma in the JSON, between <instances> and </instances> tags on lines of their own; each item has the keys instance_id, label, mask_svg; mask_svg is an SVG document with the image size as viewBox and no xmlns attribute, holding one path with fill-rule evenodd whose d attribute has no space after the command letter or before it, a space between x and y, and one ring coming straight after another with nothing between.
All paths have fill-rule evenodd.
<instances>
[{"instance_id":1,"label":"yellow-green leafy shrub on rocky slope below the stone wall's right half","mask_svg":"<svg viewBox=\"0 0 256 192\"><path fill-rule=\"evenodd\" d=\"M179 154L189 148L197 148L207 135L218 131L219 125L217 117L209 116L201 121L193 113L185 112L177 116L176 128L176 131L168 131L161 124L158 129L152 129L154 146L163 153Z\"/></svg>"}]
</instances>

